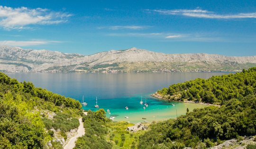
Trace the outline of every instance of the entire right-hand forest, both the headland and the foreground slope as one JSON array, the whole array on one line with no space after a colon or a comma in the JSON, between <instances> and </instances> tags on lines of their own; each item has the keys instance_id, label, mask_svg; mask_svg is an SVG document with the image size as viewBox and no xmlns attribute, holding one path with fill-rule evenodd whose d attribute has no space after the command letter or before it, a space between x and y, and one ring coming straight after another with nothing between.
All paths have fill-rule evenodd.
<instances>
[{"instance_id":1,"label":"entire right-hand forest, both the headland and the foreground slope","mask_svg":"<svg viewBox=\"0 0 256 149\"><path fill-rule=\"evenodd\" d=\"M221 106L194 109L176 120L152 124L151 130L140 136L139 149L205 149L256 135L256 68L174 84L158 93L171 100Z\"/></svg>"}]
</instances>

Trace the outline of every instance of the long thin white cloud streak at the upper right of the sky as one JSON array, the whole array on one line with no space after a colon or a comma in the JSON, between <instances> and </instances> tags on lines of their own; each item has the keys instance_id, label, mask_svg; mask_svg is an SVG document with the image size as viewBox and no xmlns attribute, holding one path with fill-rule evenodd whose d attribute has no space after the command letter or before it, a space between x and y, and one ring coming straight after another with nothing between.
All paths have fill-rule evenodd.
<instances>
[{"instance_id":1,"label":"long thin white cloud streak at the upper right of the sky","mask_svg":"<svg viewBox=\"0 0 256 149\"><path fill-rule=\"evenodd\" d=\"M256 12L252 13L237 13L237 14L217 14L212 11L202 9L146 9L146 11L157 12L163 15L181 15L194 18L212 18L212 19L233 19L233 18L256 18Z\"/></svg>"}]
</instances>

